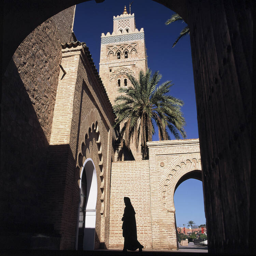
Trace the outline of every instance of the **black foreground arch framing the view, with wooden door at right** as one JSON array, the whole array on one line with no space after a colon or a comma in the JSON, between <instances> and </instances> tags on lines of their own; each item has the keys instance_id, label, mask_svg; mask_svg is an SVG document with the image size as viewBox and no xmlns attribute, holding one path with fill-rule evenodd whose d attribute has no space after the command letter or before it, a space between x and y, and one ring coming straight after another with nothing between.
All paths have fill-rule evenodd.
<instances>
[{"instance_id":1,"label":"black foreground arch framing the view, with wooden door at right","mask_svg":"<svg viewBox=\"0 0 256 256\"><path fill-rule=\"evenodd\" d=\"M56 0L49 7L40 0L5 0L3 70L35 27L80 2ZM190 27L209 252L247 251L255 223L255 205L250 214L255 189L250 189L252 1L157 2L179 13Z\"/></svg>"}]
</instances>

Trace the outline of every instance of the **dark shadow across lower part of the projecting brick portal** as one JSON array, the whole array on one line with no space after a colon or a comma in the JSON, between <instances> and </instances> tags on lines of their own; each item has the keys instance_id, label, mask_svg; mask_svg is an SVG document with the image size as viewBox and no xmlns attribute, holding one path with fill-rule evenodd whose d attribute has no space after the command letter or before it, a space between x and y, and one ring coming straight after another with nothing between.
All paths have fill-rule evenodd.
<instances>
[{"instance_id":1,"label":"dark shadow across lower part of the projecting brick portal","mask_svg":"<svg viewBox=\"0 0 256 256\"><path fill-rule=\"evenodd\" d=\"M54 224L55 231L61 233L62 238L70 236L74 243L80 200L77 183L79 178L80 173L75 172L70 145L50 145L43 203L44 218L48 223Z\"/></svg>"}]
</instances>

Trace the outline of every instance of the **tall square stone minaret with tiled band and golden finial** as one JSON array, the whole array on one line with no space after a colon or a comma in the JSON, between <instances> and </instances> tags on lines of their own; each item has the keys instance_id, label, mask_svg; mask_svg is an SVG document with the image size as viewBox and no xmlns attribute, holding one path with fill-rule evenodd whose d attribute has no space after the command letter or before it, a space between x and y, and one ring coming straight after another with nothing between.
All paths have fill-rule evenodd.
<instances>
[{"instance_id":1,"label":"tall square stone minaret with tiled band and golden finial","mask_svg":"<svg viewBox=\"0 0 256 256\"><path fill-rule=\"evenodd\" d=\"M125 73L138 78L140 70L147 69L147 56L144 30L136 28L134 13L128 14L126 7L123 14L113 17L113 32L101 34L99 74L106 88L110 102L119 94L118 87L129 86ZM135 146L131 145L135 160L141 160Z\"/></svg>"}]
</instances>

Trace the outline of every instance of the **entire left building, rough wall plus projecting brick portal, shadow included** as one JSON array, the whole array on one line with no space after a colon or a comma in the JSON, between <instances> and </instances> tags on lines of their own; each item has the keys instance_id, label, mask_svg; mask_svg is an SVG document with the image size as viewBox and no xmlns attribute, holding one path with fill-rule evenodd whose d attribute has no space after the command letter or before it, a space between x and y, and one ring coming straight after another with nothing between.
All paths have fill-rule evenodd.
<instances>
[{"instance_id":1,"label":"entire left building, rough wall plus projecting brick portal, shadow included","mask_svg":"<svg viewBox=\"0 0 256 256\"><path fill-rule=\"evenodd\" d=\"M51 233L61 236L61 249L74 249L81 162L89 157L98 176L97 249L109 239L114 115L88 48L82 55L62 55L61 43L75 39L73 14L74 6L37 27L5 72L1 218L6 230Z\"/></svg>"}]
</instances>

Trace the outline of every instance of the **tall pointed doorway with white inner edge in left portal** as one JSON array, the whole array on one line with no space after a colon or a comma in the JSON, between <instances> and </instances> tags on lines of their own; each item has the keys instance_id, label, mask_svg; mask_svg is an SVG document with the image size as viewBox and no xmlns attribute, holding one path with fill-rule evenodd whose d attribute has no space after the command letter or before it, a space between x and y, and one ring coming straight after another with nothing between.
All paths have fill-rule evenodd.
<instances>
[{"instance_id":1,"label":"tall pointed doorway with white inner edge in left portal","mask_svg":"<svg viewBox=\"0 0 256 256\"><path fill-rule=\"evenodd\" d=\"M94 250L97 192L96 168L93 160L87 158L80 179L77 250Z\"/></svg>"}]
</instances>

